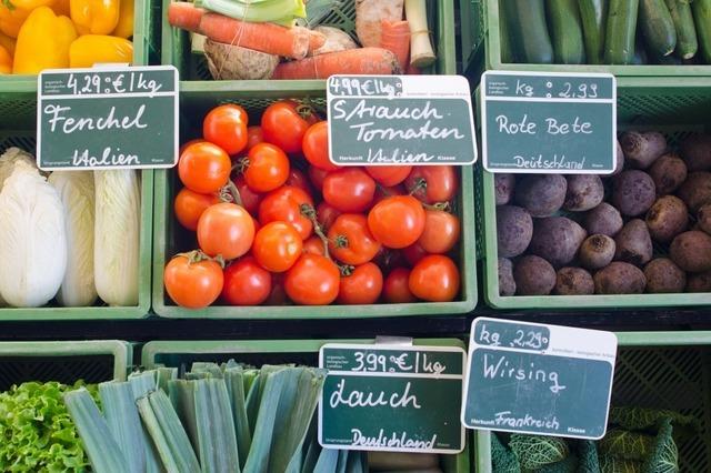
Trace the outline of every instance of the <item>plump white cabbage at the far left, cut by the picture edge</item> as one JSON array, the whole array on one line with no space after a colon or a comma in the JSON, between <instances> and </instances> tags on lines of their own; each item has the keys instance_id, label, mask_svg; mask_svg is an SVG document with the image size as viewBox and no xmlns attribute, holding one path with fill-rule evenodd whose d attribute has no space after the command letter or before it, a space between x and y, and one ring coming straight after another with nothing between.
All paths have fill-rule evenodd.
<instances>
[{"instance_id":1,"label":"plump white cabbage at the far left, cut by the picture edge","mask_svg":"<svg viewBox=\"0 0 711 473\"><path fill-rule=\"evenodd\" d=\"M67 269L64 210L33 165L20 160L0 192L0 293L18 308L48 303Z\"/></svg>"}]
</instances>

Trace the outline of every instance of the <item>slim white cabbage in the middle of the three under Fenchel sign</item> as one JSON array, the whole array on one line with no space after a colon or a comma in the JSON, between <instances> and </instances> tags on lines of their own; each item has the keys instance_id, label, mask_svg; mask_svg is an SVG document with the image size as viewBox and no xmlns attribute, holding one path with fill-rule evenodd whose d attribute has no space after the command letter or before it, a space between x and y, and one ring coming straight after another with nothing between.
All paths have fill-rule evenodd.
<instances>
[{"instance_id":1,"label":"slim white cabbage in the middle of the three under Fenchel sign","mask_svg":"<svg viewBox=\"0 0 711 473\"><path fill-rule=\"evenodd\" d=\"M64 205L67 272L57 301L67 308L91 305L97 300L93 283L93 172L54 171L49 183Z\"/></svg>"}]
</instances>

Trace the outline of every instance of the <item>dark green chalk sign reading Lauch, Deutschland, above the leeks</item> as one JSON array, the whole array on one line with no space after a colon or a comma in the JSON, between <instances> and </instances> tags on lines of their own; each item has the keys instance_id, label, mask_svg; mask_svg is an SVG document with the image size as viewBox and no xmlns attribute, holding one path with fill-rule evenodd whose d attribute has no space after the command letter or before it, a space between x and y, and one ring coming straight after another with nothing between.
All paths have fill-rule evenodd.
<instances>
[{"instance_id":1,"label":"dark green chalk sign reading Lauch, Deutschland, above the leeks","mask_svg":"<svg viewBox=\"0 0 711 473\"><path fill-rule=\"evenodd\" d=\"M327 344L319 403L326 449L459 453L464 350L459 346Z\"/></svg>"}]
</instances>

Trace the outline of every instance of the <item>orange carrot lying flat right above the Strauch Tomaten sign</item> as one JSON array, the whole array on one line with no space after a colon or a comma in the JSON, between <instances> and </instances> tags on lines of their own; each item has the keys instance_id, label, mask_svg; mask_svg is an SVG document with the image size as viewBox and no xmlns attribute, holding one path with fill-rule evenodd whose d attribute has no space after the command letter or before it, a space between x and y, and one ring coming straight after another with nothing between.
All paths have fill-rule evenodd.
<instances>
[{"instance_id":1,"label":"orange carrot lying flat right above the Strauch Tomaten sign","mask_svg":"<svg viewBox=\"0 0 711 473\"><path fill-rule=\"evenodd\" d=\"M387 49L360 48L329 52L277 66L272 79L327 79L333 74L397 74L398 58Z\"/></svg>"}]
</instances>

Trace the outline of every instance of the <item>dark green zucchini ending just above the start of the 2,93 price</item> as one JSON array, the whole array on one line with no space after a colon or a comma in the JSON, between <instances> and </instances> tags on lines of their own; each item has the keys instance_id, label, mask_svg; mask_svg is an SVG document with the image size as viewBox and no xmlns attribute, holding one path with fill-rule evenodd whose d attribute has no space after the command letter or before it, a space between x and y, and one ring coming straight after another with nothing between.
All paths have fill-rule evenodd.
<instances>
[{"instance_id":1,"label":"dark green zucchini ending just above the start of the 2,93 price","mask_svg":"<svg viewBox=\"0 0 711 473\"><path fill-rule=\"evenodd\" d=\"M545 0L545 12L553 40L553 58L558 64L582 64L585 47L578 0Z\"/></svg>"}]
</instances>

